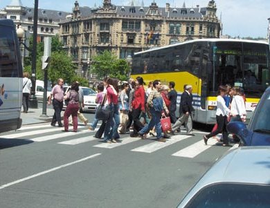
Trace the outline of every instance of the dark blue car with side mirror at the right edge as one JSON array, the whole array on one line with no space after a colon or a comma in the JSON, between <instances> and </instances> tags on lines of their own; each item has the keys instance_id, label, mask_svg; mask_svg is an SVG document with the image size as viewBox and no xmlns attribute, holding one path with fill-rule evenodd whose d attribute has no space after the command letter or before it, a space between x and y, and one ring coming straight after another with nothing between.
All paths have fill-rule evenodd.
<instances>
[{"instance_id":1,"label":"dark blue car with side mirror at the right edge","mask_svg":"<svg viewBox=\"0 0 270 208\"><path fill-rule=\"evenodd\" d=\"M228 131L241 139L241 146L270 146L270 87L262 95L249 126L230 122Z\"/></svg>"}]
</instances>

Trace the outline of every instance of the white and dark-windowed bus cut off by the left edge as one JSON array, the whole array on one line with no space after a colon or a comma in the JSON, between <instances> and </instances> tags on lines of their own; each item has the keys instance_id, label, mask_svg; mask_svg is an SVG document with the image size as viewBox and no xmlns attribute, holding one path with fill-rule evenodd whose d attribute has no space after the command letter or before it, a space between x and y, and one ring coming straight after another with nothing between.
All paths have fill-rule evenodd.
<instances>
[{"instance_id":1,"label":"white and dark-windowed bus cut off by the left edge","mask_svg":"<svg viewBox=\"0 0 270 208\"><path fill-rule=\"evenodd\" d=\"M15 24L0 19L0 133L21 128L22 76Z\"/></svg>"}]
</instances>

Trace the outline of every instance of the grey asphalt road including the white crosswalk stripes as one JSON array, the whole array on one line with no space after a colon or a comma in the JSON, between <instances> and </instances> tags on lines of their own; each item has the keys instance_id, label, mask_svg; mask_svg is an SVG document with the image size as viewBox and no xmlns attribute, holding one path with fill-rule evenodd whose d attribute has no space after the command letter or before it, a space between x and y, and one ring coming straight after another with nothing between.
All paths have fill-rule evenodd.
<instances>
[{"instance_id":1,"label":"grey asphalt road including the white crosswalk stripes","mask_svg":"<svg viewBox=\"0 0 270 208\"><path fill-rule=\"evenodd\" d=\"M91 120L93 114L84 113ZM72 126L71 126L72 128ZM93 131L48 124L0 134L0 205L42 207L176 207L229 150L213 140L174 135L165 143L121 135L105 144ZM206 149L207 148L207 149Z\"/></svg>"}]
</instances>

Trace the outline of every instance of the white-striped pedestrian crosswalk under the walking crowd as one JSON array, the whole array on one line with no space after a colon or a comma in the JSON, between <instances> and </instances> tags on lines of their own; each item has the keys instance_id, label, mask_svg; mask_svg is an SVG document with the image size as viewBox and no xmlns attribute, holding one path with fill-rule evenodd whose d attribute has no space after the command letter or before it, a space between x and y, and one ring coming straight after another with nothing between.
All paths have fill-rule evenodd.
<instances>
[{"instance_id":1,"label":"white-striped pedestrian crosswalk under the walking crowd","mask_svg":"<svg viewBox=\"0 0 270 208\"><path fill-rule=\"evenodd\" d=\"M60 145L78 145L88 142L87 144L90 144L94 148L102 149L116 149L119 146L124 146L126 144L135 144L134 146L136 146L136 148L134 148L134 146L133 148L130 148L129 146L129 151L137 153L154 153L161 149L168 148L169 146L185 142L184 145L177 145L177 147L180 146L180 149L170 154L179 158L195 158L199 154L211 149L213 146L219 148L216 140L209 140L208 145L206 146L204 145L203 140L192 138L189 135L173 135L167 142L157 142L151 137L146 140L141 140L141 138L131 138L129 137L129 134L125 134L121 135L121 138L117 143L102 143L94 137L94 131L89 131L83 125L78 126L77 133L73 131L64 132L62 130L62 128L52 127L50 124L34 124L22 126L21 129L12 133L2 133L0 134L0 138L30 140L33 142L55 141L55 143ZM231 149L233 148L237 148L237 144Z\"/></svg>"}]
</instances>

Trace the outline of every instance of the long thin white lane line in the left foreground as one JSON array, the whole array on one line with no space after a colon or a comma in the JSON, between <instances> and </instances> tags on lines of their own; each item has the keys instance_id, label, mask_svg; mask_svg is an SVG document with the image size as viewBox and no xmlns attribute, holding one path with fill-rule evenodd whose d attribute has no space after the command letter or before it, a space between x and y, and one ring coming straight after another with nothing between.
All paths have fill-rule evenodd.
<instances>
[{"instance_id":1,"label":"long thin white lane line in the left foreground","mask_svg":"<svg viewBox=\"0 0 270 208\"><path fill-rule=\"evenodd\" d=\"M26 177L26 178L21 178L21 179L19 179L19 180L15 180L15 181L13 181L13 182L9 182L9 183L7 183L6 185L1 185L1 186L0 186L0 189L5 189L6 187L10 187L10 186L12 186L12 185L18 184L19 182L24 182L24 181L26 181L26 180L30 180L30 179L32 179L32 178L36 178L36 177L38 177L38 176L42 176L42 175L44 175L44 174L46 174L46 173L51 173L51 172L53 172L53 171L57 171L57 170L62 169L62 168L64 168L64 167L71 166L72 164L76 164L76 163L79 163L79 162L83 162L83 161L89 160L89 159L91 159L91 158L96 158L98 155L101 155L101 153L97 153L97 154L95 154L95 155L90 155L90 156L88 156L87 158L82 158L82 159L80 159L80 160L76 160L76 161L73 161L73 162L69 162L69 163L67 163L67 164L62 164L62 165L60 165L60 166L58 166L58 167L55 167L55 168L53 168L53 169L48 169L48 170L46 170L46 171L42 171L42 172L36 173L36 174L34 174L34 175L32 175L32 176L28 176L28 177Z\"/></svg>"}]
</instances>

